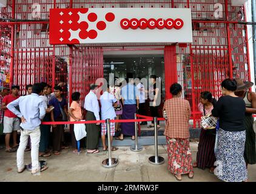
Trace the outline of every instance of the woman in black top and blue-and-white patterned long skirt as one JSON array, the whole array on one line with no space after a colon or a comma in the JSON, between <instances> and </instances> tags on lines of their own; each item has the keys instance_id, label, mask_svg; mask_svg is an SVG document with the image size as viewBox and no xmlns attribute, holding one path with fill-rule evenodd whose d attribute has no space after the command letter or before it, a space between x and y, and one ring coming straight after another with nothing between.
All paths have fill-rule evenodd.
<instances>
[{"instance_id":1,"label":"woman in black top and blue-and-white patterned long skirt","mask_svg":"<svg viewBox=\"0 0 256 194\"><path fill-rule=\"evenodd\" d=\"M244 117L245 102L235 95L237 82L225 79L221 82L223 96L218 99L212 110L212 116L220 119L218 129L216 175L226 182L247 181L248 174L244 161L244 144L246 131Z\"/></svg>"}]
</instances>

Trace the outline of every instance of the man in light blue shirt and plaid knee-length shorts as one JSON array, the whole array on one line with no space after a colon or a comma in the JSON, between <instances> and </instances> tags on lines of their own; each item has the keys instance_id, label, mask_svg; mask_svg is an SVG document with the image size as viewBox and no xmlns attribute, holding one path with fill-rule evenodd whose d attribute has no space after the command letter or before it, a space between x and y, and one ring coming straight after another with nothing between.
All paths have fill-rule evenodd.
<instances>
[{"instance_id":1,"label":"man in light blue shirt and plaid knee-length shorts","mask_svg":"<svg viewBox=\"0 0 256 194\"><path fill-rule=\"evenodd\" d=\"M115 119L116 113L115 109L113 107L117 106L117 100L115 96L109 93L109 85L107 85L107 88L103 89L104 93L99 98L99 101L101 102L101 119ZM107 124L102 123L101 124L101 140L103 142L103 150L107 150L106 146L106 133L107 133ZM108 134L109 135L109 134ZM113 136L115 136L115 122L110 122L110 145L112 145ZM111 147L112 151L118 150L117 147Z\"/></svg>"}]
</instances>

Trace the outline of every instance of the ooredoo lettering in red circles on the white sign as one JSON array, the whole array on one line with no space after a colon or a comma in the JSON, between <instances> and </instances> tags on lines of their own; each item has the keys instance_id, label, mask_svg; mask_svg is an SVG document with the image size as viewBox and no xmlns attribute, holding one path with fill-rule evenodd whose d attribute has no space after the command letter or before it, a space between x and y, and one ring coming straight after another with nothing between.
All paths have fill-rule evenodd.
<instances>
[{"instance_id":1,"label":"ooredoo lettering in red circles on the white sign","mask_svg":"<svg viewBox=\"0 0 256 194\"><path fill-rule=\"evenodd\" d=\"M132 18L132 19L124 18L120 21L120 25L124 30L127 30L129 28L132 28L133 30L136 30L138 28L141 28L143 30L146 28L149 28L151 30L153 30L155 28L158 28L160 30L163 28L167 28L168 30L175 28L175 29L179 30L180 28L183 27L184 22L180 18L177 18L175 20L173 20L171 18L169 18L169 19L141 18L140 20L138 20L136 18Z\"/></svg>"}]
</instances>

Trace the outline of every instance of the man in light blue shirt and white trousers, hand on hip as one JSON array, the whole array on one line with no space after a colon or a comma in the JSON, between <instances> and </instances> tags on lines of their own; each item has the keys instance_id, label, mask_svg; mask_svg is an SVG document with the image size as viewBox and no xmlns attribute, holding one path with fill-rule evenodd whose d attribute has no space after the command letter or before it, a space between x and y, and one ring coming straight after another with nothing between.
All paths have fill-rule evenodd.
<instances>
[{"instance_id":1,"label":"man in light blue shirt and white trousers, hand on hip","mask_svg":"<svg viewBox=\"0 0 256 194\"><path fill-rule=\"evenodd\" d=\"M27 141L31 139L31 158L32 158L32 175L36 175L40 172L40 164L38 161L38 150L40 142L40 127L41 120L45 115L44 101L39 97L42 93L42 86L36 83L32 87L32 94L27 96L21 96L10 104L7 105L7 109L21 118L21 138L19 141L19 149L17 151L17 166L18 173L25 170L24 166L24 150L27 146ZM19 107L19 110L17 109ZM48 167L45 166L46 170Z\"/></svg>"}]
</instances>

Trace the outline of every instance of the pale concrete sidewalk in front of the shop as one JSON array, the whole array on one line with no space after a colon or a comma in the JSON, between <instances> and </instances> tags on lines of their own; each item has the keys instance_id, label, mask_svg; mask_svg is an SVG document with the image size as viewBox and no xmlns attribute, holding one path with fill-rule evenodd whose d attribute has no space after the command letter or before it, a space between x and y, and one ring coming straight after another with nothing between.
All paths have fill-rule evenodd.
<instances>
[{"instance_id":1,"label":"pale concrete sidewalk in front of the shop","mask_svg":"<svg viewBox=\"0 0 256 194\"><path fill-rule=\"evenodd\" d=\"M197 142L190 143L192 149L193 161L197 154ZM86 154L86 151L80 155L72 150L62 150L61 155L52 155L47 158L49 169L41 173L40 176L32 176L25 170L18 174L16 171L16 152L6 153L0 150L0 181L173 181L176 179L167 170L166 145L158 146L160 156L166 161L160 166L149 164L148 158L154 154L154 146L143 146L143 151L132 152L130 147L123 146L112 156L119 159L118 166L112 169L106 169L101 166L103 159L107 158L107 152L97 154ZM44 159L41 158L40 159ZM25 152L25 163L30 163L30 152ZM189 182L211 182L220 181L214 174L206 170L195 168L194 179L187 178L183 175L183 181ZM249 181L256 181L256 165L248 169Z\"/></svg>"}]
</instances>

